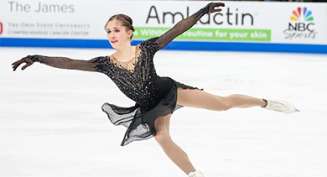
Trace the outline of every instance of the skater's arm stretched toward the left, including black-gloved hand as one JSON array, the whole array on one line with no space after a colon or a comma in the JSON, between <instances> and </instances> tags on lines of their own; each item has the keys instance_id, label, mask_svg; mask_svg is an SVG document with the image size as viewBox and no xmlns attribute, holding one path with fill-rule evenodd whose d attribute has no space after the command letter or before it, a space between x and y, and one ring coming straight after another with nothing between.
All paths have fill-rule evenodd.
<instances>
[{"instance_id":1,"label":"skater's arm stretched toward the left, including black-gloved hand","mask_svg":"<svg viewBox=\"0 0 327 177\"><path fill-rule=\"evenodd\" d=\"M75 60L66 57L49 57L43 55L28 55L14 63L12 68L15 71L19 65L25 63L22 70L31 66L34 62L40 62L48 66L61 69L74 69L82 71L96 71L94 60Z\"/></svg>"}]
</instances>

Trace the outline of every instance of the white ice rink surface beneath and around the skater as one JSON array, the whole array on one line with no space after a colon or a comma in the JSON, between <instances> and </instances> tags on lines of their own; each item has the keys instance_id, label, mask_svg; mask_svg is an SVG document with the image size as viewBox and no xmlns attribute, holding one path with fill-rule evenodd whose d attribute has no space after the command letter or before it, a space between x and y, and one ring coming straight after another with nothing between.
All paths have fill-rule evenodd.
<instances>
[{"instance_id":1,"label":"white ice rink surface beneath and around the skater","mask_svg":"<svg viewBox=\"0 0 327 177\"><path fill-rule=\"evenodd\" d=\"M1 177L183 177L155 140L121 147L104 102L134 103L104 74L11 63L28 54L91 59L103 49L0 48ZM206 177L327 176L327 56L165 51L157 73L217 95L287 100L301 112L182 108L171 134Z\"/></svg>"}]
</instances>

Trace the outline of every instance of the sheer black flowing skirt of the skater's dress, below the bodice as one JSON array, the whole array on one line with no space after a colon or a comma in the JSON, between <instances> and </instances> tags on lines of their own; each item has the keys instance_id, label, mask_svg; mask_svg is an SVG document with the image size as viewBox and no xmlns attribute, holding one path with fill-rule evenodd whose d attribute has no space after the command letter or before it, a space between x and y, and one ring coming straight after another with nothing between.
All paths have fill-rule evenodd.
<instances>
[{"instance_id":1,"label":"sheer black flowing skirt of the skater's dress, below the bodice","mask_svg":"<svg viewBox=\"0 0 327 177\"><path fill-rule=\"evenodd\" d=\"M176 104L177 88L199 89L174 80L172 81L173 84L171 84L167 94L153 108L147 111L141 110L138 104L132 107L120 107L110 103L102 105L102 111L107 114L111 123L127 128L120 144L121 146L125 146L133 141L149 139L156 135L155 120L160 116L171 114L182 107Z\"/></svg>"}]
</instances>

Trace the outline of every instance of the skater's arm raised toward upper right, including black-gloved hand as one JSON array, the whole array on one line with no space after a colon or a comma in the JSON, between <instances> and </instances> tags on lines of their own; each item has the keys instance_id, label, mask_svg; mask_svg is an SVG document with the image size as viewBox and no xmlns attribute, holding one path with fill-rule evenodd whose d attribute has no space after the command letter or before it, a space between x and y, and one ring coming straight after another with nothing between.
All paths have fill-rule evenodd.
<instances>
[{"instance_id":1,"label":"skater's arm raised toward upper right, including black-gloved hand","mask_svg":"<svg viewBox=\"0 0 327 177\"><path fill-rule=\"evenodd\" d=\"M205 7L194 13L193 15L179 21L174 27L172 27L164 34L162 34L155 42L159 44L160 48L163 48L178 35L184 33L185 31L190 29L193 25L195 25L196 22L200 20L204 14L212 13L212 12L220 12L221 11L220 7L224 7L224 6L225 4L222 2L209 3L208 5L206 5Z\"/></svg>"}]
</instances>

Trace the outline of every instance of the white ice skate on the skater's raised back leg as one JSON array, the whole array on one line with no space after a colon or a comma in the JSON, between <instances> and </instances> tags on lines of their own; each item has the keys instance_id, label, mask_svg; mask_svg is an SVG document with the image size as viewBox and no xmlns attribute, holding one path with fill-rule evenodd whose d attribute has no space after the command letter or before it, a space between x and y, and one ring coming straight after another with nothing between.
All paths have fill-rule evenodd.
<instances>
[{"instance_id":1,"label":"white ice skate on the skater's raised back leg","mask_svg":"<svg viewBox=\"0 0 327 177\"><path fill-rule=\"evenodd\" d=\"M292 104L286 101L267 100L267 105L264 108L283 113L299 112L298 109L296 109Z\"/></svg>"}]
</instances>

